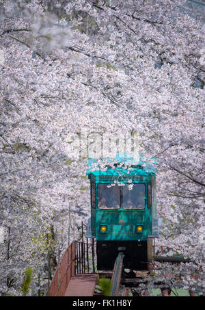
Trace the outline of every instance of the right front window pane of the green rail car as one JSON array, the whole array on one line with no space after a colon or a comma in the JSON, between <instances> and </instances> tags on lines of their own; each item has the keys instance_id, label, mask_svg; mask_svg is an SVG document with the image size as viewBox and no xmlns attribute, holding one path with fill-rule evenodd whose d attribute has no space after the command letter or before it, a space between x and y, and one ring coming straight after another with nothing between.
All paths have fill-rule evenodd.
<instances>
[{"instance_id":1,"label":"right front window pane of the green rail car","mask_svg":"<svg viewBox=\"0 0 205 310\"><path fill-rule=\"evenodd\" d=\"M133 184L133 188L131 190L128 189L128 184L125 184L122 186L122 207L124 209L145 209L145 196L145 184Z\"/></svg>"}]
</instances>

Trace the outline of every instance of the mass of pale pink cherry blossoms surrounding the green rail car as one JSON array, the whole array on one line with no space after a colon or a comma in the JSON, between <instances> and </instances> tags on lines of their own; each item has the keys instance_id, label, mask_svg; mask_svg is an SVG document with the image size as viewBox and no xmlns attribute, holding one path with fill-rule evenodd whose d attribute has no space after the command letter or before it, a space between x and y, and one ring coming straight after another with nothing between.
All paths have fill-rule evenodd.
<instances>
[{"instance_id":1,"label":"mass of pale pink cherry blossoms surrounding the green rail car","mask_svg":"<svg viewBox=\"0 0 205 310\"><path fill-rule=\"evenodd\" d=\"M80 156L70 152L86 128L90 144L94 133L138 133L140 153L157 162L158 242L191 259L173 272L204 294L200 17L176 0L0 5L1 293L20 294L29 266L36 294L40 270L46 283L68 246L68 225L74 238L89 217L87 157L81 142Z\"/></svg>"}]
</instances>

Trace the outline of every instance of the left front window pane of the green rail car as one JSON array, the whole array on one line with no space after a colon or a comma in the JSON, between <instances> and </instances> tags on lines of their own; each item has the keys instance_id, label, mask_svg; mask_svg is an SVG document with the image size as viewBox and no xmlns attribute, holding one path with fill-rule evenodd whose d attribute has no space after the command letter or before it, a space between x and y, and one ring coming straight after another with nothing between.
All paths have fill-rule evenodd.
<instances>
[{"instance_id":1,"label":"left front window pane of the green rail car","mask_svg":"<svg viewBox=\"0 0 205 310\"><path fill-rule=\"evenodd\" d=\"M120 209L120 186L109 184L98 184L98 208Z\"/></svg>"}]
</instances>

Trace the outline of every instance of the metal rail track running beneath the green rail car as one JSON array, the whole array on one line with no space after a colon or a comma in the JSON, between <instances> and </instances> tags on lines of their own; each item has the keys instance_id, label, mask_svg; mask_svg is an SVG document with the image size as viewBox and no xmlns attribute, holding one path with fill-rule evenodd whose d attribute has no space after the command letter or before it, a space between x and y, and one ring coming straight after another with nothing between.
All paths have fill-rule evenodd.
<instances>
[{"instance_id":1,"label":"metal rail track running beneath the green rail car","mask_svg":"<svg viewBox=\"0 0 205 310\"><path fill-rule=\"evenodd\" d=\"M111 295L119 296L120 280L123 268L124 253L120 252L118 257L115 259L115 265L113 270L113 276L111 279Z\"/></svg>"}]
</instances>

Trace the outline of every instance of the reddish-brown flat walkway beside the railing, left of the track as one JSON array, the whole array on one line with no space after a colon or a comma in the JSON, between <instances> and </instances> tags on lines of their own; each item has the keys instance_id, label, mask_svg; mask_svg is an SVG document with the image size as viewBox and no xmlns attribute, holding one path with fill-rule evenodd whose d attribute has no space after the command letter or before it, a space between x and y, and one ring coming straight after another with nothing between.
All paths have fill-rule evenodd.
<instances>
[{"instance_id":1,"label":"reddish-brown flat walkway beside the railing, left of the track","mask_svg":"<svg viewBox=\"0 0 205 310\"><path fill-rule=\"evenodd\" d=\"M72 276L64 296L93 296L97 279L97 274L76 274Z\"/></svg>"}]
</instances>

